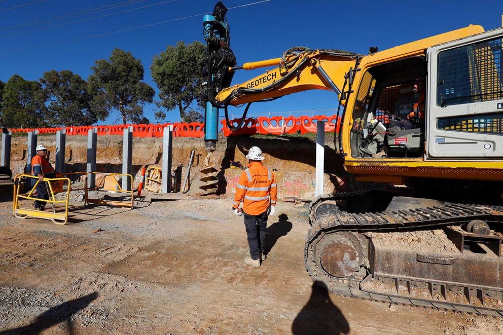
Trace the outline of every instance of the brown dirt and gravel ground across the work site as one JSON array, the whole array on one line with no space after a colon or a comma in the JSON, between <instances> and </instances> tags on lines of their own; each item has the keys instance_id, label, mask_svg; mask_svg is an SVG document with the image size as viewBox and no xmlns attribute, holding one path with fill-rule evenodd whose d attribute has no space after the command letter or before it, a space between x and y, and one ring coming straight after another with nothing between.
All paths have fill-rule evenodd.
<instances>
[{"instance_id":1,"label":"brown dirt and gravel ground across the work site","mask_svg":"<svg viewBox=\"0 0 503 335\"><path fill-rule=\"evenodd\" d=\"M0 202L0 334L503 332L492 317L313 286L303 262L307 205L278 204L260 268L243 263L246 235L231 199L81 205L57 226L17 219L12 201Z\"/></svg>"}]
</instances>

